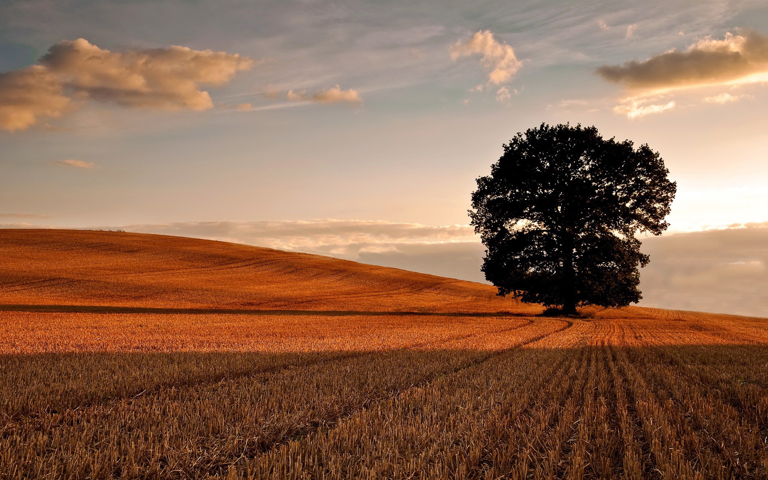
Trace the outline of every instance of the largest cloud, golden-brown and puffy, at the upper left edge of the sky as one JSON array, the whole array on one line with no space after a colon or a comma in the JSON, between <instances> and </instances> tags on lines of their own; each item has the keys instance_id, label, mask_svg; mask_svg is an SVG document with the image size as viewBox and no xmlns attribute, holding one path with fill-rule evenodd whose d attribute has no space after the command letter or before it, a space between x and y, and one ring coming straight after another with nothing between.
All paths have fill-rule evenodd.
<instances>
[{"instance_id":1,"label":"largest cloud, golden-brown and puffy, at the upper left edge of the sky","mask_svg":"<svg viewBox=\"0 0 768 480\"><path fill-rule=\"evenodd\" d=\"M113 52L78 38L51 46L39 64L0 74L0 127L5 130L60 117L73 101L206 110L213 102L200 87L223 85L253 61L179 46Z\"/></svg>"}]
</instances>

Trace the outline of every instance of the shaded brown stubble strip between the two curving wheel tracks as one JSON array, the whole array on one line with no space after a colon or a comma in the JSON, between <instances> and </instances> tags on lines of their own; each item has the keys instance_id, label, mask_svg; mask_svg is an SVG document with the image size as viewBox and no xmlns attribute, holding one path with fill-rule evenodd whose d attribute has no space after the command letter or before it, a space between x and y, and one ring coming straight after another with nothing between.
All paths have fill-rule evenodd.
<instances>
[{"instance_id":1,"label":"shaded brown stubble strip between the two curving wheel tracks","mask_svg":"<svg viewBox=\"0 0 768 480\"><path fill-rule=\"evenodd\" d=\"M28 476L176 478L270 449L489 352L369 353L213 385L7 422L0 450ZM201 458L203 460L201 460ZM175 473L174 473L175 472Z\"/></svg>"}]
</instances>

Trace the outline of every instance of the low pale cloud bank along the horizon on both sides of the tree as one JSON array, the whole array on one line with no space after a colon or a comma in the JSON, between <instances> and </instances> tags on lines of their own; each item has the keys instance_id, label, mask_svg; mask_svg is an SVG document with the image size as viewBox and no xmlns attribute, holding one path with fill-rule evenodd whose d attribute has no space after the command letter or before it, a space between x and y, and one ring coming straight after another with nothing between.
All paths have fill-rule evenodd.
<instances>
[{"instance_id":1,"label":"low pale cloud bank along the horizon on both sides of the tree","mask_svg":"<svg viewBox=\"0 0 768 480\"><path fill-rule=\"evenodd\" d=\"M32 226L15 223L2 227ZM480 271L485 247L468 225L313 220L103 228L247 243L485 282ZM768 316L768 222L642 240L650 264L641 270L641 306Z\"/></svg>"}]
</instances>

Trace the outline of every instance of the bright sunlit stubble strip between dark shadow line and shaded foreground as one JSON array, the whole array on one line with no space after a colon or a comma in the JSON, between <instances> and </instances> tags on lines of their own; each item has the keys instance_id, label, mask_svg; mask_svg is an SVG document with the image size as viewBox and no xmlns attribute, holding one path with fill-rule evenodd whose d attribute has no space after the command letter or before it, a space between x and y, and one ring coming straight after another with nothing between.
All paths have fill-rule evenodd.
<instances>
[{"instance_id":1,"label":"bright sunlit stubble strip between dark shadow line and shaded foreground","mask_svg":"<svg viewBox=\"0 0 768 480\"><path fill-rule=\"evenodd\" d=\"M531 323L518 316L0 313L0 353L320 352L442 348Z\"/></svg>"}]
</instances>

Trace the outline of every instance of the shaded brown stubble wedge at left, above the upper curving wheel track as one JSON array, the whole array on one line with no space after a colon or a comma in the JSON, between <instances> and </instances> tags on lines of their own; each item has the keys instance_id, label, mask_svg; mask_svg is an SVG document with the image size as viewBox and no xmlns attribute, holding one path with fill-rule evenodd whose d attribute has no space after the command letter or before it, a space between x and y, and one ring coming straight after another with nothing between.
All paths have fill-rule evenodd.
<instances>
[{"instance_id":1,"label":"shaded brown stubble wedge at left, above the upper curving wheel track","mask_svg":"<svg viewBox=\"0 0 768 480\"><path fill-rule=\"evenodd\" d=\"M61 353L0 356L0 417L60 413L359 355L326 353Z\"/></svg>"}]
</instances>

